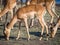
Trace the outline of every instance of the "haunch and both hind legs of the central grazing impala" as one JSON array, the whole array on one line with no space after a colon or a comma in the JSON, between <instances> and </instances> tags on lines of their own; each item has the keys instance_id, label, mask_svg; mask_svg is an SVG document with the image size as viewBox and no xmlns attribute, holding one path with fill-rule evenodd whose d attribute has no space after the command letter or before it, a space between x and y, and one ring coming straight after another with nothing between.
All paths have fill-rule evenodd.
<instances>
[{"instance_id":1,"label":"haunch and both hind legs of the central grazing impala","mask_svg":"<svg viewBox=\"0 0 60 45\"><path fill-rule=\"evenodd\" d=\"M46 32L47 32L47 34L48 34L48 26L46 25L46 22L44 21L45 11L46 11L46 10L44 10L42 13L40 13L40 14L39 14L39 18L38 18L38 19L39 19L39 22L40 22L40 24L41 24L41 26L42 26L41 37L40 37L39 40L42 39L43 32L44 32L44 26L46 27Z\"/></svg>"}]
</instances>

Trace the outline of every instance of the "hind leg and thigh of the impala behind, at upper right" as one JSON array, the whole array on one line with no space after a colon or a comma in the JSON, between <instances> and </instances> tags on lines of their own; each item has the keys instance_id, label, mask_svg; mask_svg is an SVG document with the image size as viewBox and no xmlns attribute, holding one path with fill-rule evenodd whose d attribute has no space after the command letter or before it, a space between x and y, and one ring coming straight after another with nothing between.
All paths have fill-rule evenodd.
<instances>
[{"instance_id":1,"label":"hind leg and thigh of the impala behind, at upper right","mask_svg":"<svg viewBox=\"0 0 60 45\"><path fill-rule=\"evenodd\" d=\"M50 16L52 17L50 23L53 23L54 16L57 16L56 13L53 12L54 5L55 4L53 2L51 4L46 3L46 9L49 12Z\"/></svg>"}]
</instances>

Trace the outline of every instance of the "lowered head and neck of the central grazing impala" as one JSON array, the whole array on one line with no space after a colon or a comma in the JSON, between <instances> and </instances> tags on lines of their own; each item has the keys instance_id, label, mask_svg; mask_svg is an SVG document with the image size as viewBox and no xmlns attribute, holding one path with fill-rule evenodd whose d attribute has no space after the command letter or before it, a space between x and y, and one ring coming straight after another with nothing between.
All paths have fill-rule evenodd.
<instances>
[{"instance_id":1,"label":"lowered head and neck of the central grazing impala","mask_svg":"<svg viewBox=\"0 0 60 45\"><path fill-rule=\"evenodd\" d=\"M15 15L10 23L7 25L7 27L5 28L4 30L4 36L6 37L6 40L9 40L9 37L10 37L10 31L11 31L11 28L13 27L13 25L17 22L17 15Z\"/></svg>"}]
</instances>

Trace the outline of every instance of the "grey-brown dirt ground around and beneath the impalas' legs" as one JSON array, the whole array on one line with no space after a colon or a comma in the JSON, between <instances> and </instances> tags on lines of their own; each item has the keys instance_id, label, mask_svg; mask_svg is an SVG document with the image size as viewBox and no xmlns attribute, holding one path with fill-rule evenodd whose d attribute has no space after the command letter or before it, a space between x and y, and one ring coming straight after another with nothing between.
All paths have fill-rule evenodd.
<instances>
[{"instance_id":1,"label":"grey-brown dirt ground around and beneath the impalas' legs","mask_svg":"<svg viewBox=\"0 0 60 45\"><path fill-rule=\"evenodd\" d=\"M60 7L57 6L57 14L59 15ZM46 21L49 21L50 16L45 16ZM9 21L10 19L8 19ZM3 17L3 21L0 21L0 45L60 45L60 29L58 29L57 34L54 38L49 38L46 40L46 31L44 32L43 39L40 41L39 36L41 32L41 26L36 22L34 27L30 28L31 39L27 40L26 28L21 27L21 35L19 40L15 40L18 33L18 24L16 23L14 28L11 31L10 40L6 41L4 39L3 30L4 30L5 16Z\"/></svg>"}]
</instances>

